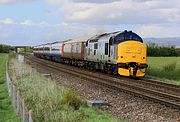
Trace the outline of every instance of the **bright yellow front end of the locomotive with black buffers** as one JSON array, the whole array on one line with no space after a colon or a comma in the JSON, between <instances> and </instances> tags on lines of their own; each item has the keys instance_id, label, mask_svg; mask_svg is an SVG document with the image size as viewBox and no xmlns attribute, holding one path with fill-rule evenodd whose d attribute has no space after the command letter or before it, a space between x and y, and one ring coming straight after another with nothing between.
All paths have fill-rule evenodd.
<instances>
[{"instance_id":1,"label":"bright yellow front end of the locomotive with black buffers","mask_svg":"<svg viewBox=\"0 0 180 122\"><path fill-rule=\"evenodd\" d=\"M145 75L147 46L134 40L118 44L118 73L123 76Z\"/></svg>"}]
</instances>

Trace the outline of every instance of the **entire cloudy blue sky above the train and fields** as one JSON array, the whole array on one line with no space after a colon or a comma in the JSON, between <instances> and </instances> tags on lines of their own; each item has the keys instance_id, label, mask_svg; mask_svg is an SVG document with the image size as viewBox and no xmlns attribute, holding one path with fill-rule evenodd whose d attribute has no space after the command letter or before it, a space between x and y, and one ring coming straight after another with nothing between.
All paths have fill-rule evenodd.
<instances>
[{"instance_id":1,"label":"entire cloudy blue sky above the train and fields","mask_svg":"<svg viewBox=\"0 0 180 122\"><path fill-rule=\"evenodd\" d=\"M0 0L0 43L31 45L132 30L180 37L180 0Z\"/></svg>"}]
</instances>

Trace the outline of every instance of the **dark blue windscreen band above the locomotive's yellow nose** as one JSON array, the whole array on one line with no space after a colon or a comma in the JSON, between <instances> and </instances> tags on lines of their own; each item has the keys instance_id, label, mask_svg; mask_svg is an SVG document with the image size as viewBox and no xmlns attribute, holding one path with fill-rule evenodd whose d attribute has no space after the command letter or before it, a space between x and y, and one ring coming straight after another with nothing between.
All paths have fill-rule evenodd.
<instances>
[{"instance_id":1,"label":"dark blue windscreen band above the locomotive's yellow nose","mask_svg":"<svg viewBox=\"0 0 180 122\"><path fill-rule=\"evenodd\" d=\"M124 41L128 41L128 40L134 40L134 41L143 43L142 38L140 36L138 36L137 34L133 33L132 31L124 31L114 37L115 44L118 44L118 43L121 43Z\"/></svg>"}]
</instances>

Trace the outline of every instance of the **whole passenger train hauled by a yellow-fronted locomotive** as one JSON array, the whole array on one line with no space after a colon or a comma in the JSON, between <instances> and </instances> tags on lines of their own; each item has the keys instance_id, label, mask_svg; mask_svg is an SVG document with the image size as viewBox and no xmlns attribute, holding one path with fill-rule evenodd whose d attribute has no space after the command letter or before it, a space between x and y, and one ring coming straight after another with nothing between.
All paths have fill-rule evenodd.
<instances>
[{"instance_id":1,"label":"whole passenger train hauled by a yellow-fronted locomotive","mask_svg":"<svg viewBox=\"0 0 180 122\"><path fill-rule=\"evenodd\" d=\"M116 31L34 46L36 57L128 77L145 76L147 45L132 31Z\"/></svg>"}]
</instances>

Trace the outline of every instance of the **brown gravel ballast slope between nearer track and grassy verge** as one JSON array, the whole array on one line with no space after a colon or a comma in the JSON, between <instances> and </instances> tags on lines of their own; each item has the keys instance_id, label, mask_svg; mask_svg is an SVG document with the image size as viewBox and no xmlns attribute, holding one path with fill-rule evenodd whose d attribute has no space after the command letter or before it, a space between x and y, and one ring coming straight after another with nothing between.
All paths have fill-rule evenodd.
<instances>
[{"instance_id":1,"label":"brown gravel ballast slope between nearer track and grassy verge","mask_svg":"<svg viewBox=\"0 0 180 122\"><path fill-rule=\"evenodd\" d=\"M110 106L102 109L116 117L135 122L180 122L180 111L177 109L109 89L45 66L34 65L34 67L40 73L51 74L52 79L74 89L82 97L105 100Z\"/></svg>"}]
</instances>

